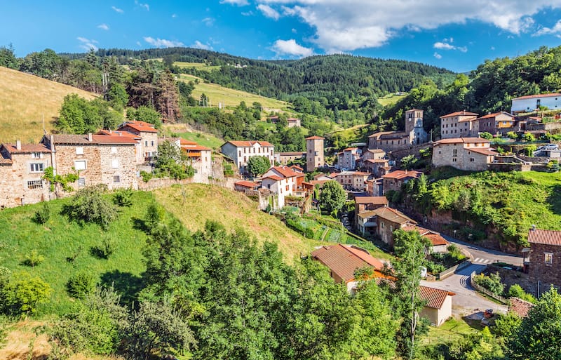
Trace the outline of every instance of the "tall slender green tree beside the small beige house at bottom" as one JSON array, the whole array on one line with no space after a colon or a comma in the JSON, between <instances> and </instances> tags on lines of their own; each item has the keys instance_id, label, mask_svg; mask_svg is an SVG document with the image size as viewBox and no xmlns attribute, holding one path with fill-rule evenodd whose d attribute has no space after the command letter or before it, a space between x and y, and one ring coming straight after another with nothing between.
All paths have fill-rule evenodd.
<instances>
[{"instance_id":1,"label":"tall slender green tree beside the small beige house at bottom","mask_svg":"<svg viewBox=\"0 0 561 360\"><path fill-rule=\"evenodd\" d=\"M398 335L398 352L407 359L413 359L417 343L415 337L419 331L419 312L425 302L419 297L421 284L421 267L425 264L428 253L427 240L419 232L405 232L398 229L393 232L394 250L397 260L392 262L394 275L397 277L396 293L398 309L403 318Z\"/></svg>"}]
</instances>

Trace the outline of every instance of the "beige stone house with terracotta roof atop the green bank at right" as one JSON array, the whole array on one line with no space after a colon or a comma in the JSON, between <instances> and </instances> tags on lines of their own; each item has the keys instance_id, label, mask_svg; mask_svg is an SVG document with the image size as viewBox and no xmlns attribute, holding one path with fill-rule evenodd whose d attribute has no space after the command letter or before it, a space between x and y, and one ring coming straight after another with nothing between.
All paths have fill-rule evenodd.
<instances>
[{"instance_id":1,"label":"beige stone house with terracotta roof atop the green bank at right","mask_svg":"<svg viewBox=\"0 0 561 360\"><path fill-rule=\"evenodd\" d=\"M443 139L433 144L433 166L452 166L466 171L485 171L499 153L483 138Z\"/></svg>"}]
</instances>

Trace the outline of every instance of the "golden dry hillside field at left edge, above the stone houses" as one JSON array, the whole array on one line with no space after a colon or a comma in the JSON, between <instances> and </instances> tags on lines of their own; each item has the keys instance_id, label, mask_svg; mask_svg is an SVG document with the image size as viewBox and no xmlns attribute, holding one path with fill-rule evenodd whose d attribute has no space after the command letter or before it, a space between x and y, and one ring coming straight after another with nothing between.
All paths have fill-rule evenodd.
<instances>
[{"instance_id":1,"label":"golden dry hillside field at left edge, above the stone houses","mask_svg":"<svg viewBox=\"0 0 561 360\"><path fill-rule=\"evenodd\" d=\"M76 93L83 98L95 95L38 76L0 67L0 142L37 142L53 129L60 105L66 95Z\"/></svg>"}]
</instances>

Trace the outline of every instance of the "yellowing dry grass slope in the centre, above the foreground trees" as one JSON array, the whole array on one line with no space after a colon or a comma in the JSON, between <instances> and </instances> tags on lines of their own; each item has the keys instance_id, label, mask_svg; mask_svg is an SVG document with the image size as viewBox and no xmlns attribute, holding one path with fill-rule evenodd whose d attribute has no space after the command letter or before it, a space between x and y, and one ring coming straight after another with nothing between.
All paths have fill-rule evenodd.
<instances>
[{"instance_id":1,"label":"yellowing dry grass slope in the centre, above the foreground trees","mask_svg":"<svg viewBox=\"0 0 561 360\"><path fill-rule=\"evenodd\" d=\"M276 242L290 264L316 245L316 242L304 239L274 216L257 210L257 203L247 196L223 187L190 184L158 189L154 195L156 201L179 218L187 229L204 229L207 220L220 222L229 231L244 229L259 242Z\"/></svg>"}]
</instances>

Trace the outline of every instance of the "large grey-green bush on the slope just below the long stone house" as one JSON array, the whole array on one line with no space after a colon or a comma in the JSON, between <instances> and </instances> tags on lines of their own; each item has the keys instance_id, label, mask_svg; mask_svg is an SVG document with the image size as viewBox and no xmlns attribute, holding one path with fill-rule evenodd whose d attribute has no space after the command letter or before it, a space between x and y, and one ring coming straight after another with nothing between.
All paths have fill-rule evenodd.
<instances>
[{"instance_id":1,"label":"large grey-green bush on the slope just below the long stone house","mask_svg":"<svg viewBox=\"0 0 561 360\"><path fill-rule=\"evenodd\" d=\"M64 212L71 220L93 222L107 229L117 218L117 209L103 198L104 189L107 187L99 185L81 189L74 195L71 204L65 206Z\"/></svg>"}]
</instances>

